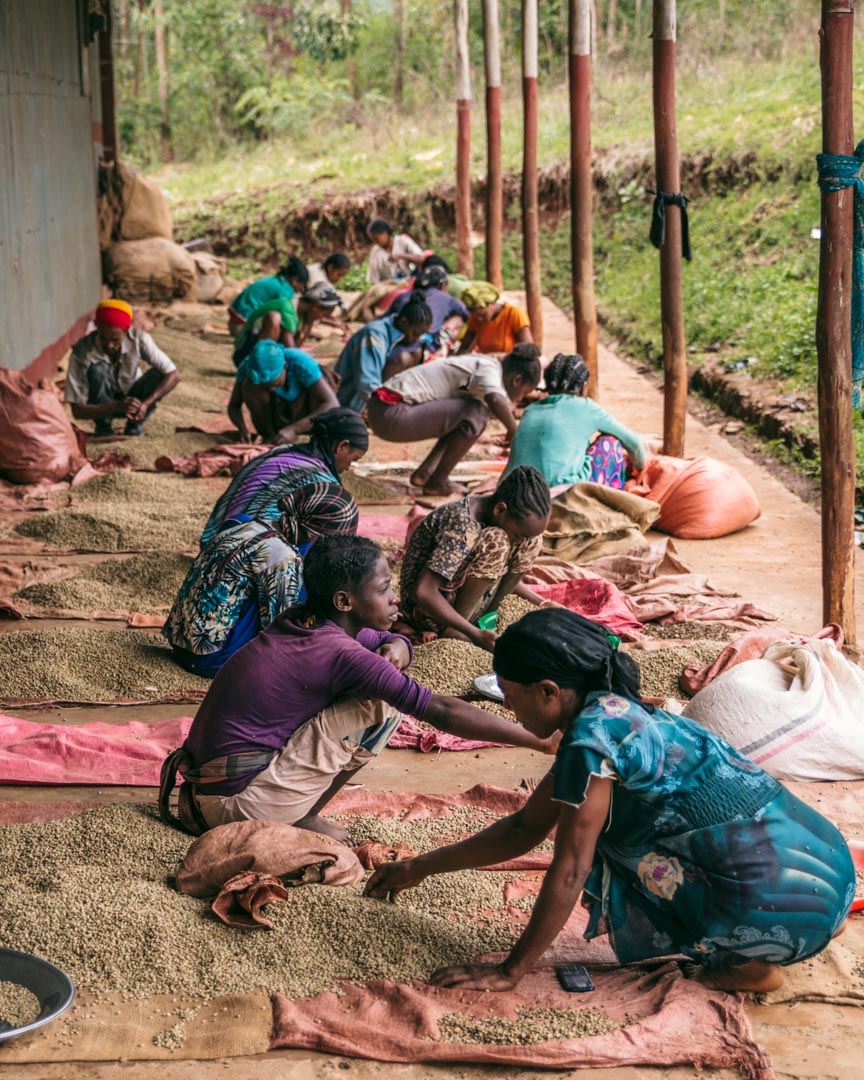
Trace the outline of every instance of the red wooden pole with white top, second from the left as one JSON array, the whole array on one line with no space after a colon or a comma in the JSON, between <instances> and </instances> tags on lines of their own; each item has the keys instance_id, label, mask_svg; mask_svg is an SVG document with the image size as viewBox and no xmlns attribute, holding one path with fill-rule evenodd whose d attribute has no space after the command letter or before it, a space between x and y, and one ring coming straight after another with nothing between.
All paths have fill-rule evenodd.
<instances>
[{"instance_id":1,"label":"red wooden pole with white top, second from the left","mask_svg":"<svg viewBox=\"0 0 864 1080\"><path fill-rule=\"evenodd\" d=\"M486 280L503 288L501 246L504 181L501 171L501 33L498 0L483 0L483 57L486 66Z\"/></svg>"}]
</instances>

